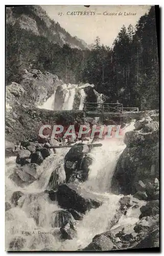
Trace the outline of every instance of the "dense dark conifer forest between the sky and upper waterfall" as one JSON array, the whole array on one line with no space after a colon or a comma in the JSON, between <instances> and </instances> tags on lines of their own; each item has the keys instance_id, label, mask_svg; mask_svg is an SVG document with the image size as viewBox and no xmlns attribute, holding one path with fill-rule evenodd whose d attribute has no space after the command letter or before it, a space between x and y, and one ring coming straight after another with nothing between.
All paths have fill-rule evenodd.
<instances>
[{"instance_id":1,"label":"dense dark conifer forest between the sky and upper waterfall","mask_svg":"<svg viewBox=\"0 0 164 256\"><path fill-rule=\"evenodd\" d=\"M37 19L37 24L45 29L43 20ZM60 25L54 26L62 29ZM51 41L48 35L32 34L16 23L7 24L6 38L7 84L20 82L20 68L32 67L57 74L66 83L93 83L108 102L119 100L124 106L138 106L142 110L159 107L154 7L140 17L135 28L123 26L112 48L101 45L99 37L92 50L61 46L57 41L54 44L54 38Z\"/></svg>"}]
</instances>

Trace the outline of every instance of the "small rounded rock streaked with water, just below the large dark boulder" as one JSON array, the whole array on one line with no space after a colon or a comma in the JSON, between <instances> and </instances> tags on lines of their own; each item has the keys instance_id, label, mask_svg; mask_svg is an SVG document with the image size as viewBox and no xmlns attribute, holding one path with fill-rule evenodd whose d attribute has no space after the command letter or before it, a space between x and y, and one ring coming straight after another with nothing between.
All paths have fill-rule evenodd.
<instances>
[{"instance_id":1,"label":"small rounded rock streaked with water, just below the large dark boulder","mask_svg":"<svg viewBox=\"0 0 164 256\"><path fill-rule=\"evenodd\" d=\"M72 214L66 210L54 211L51 215L51 226L52 227L65 227L67 224L74 227L75 219Z\"/></svg>"}]
</instances>

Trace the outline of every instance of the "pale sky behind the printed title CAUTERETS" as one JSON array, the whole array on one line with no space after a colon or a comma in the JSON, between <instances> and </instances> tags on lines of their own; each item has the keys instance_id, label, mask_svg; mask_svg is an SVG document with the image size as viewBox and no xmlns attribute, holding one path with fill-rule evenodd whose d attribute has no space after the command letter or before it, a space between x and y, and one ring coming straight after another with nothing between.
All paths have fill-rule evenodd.
<instances>
[{"instance_id":1,"label":"pale sky behind the printed title CAUTERETS","mask_svg":"<svg viewBox=\"0 0 164 256\"><path fill-rule=\"evenodd\" d=\"M101 44L109 47L112 46L123 25L128 27L131 24L135 27L140 16L150 10L148 5L102 5L89 8L80 5L43 5L41 7L72 36L83 39L87 44L93 44L96 37L99 36ZM92 15L70 15L72 12L78 11L95 12L95 15L93 13ZM110 15L104 15L104 12L105 14L110 13ZM120 12L122 15L119 15ZM129 12L135 15L127 15ZM112 13L115 15L111 15Z\"/></svg>"}]
</instances>

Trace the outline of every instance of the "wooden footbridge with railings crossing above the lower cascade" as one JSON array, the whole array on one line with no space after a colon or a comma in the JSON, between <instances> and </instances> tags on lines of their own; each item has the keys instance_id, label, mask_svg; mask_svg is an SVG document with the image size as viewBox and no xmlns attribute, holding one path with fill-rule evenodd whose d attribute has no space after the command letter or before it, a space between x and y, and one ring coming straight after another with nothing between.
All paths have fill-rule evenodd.
<instances>
[{"instance_id":1,"label":"wooden footbridge with railings crossing above the lower cascade","mask_svg":"<svg viewBox=\"0 0 164 256\"><path fill-rule=\"evenodd\" d=\"M88 117L131 117L139 116L138 108L124 108L122 103L84 102L83 111Z\"/></svg>"}]
</instances>

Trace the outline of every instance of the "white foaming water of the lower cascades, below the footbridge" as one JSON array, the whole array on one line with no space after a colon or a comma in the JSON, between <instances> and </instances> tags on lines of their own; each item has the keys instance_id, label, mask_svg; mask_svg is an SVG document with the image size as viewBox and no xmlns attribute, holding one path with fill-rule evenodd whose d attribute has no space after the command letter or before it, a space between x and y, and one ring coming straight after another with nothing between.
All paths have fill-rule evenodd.
<instances>
[{"instance_id":1,"label":"white foaming water of the lower cascades, below the footbridge","mask_svg":"<svg viewBox=\"0 0 164 256\"><path fill-rule=\"evenodd\" d=\"M71 101L70 101L71 104ZM125 131L133 129L133 124L126 125ZM119 200L122 195L113 195L110 193L110 182L114 172L116 162L120 154L125 148L123 139L107 139L102 141L102 147L92 148L90 155L94 159L89 167L88 180L79 183L79 187L85 188L85 191L96 195L103 204L97 209L91 209L86 212L83 220L77 221L77 237L73 240L61 242L52 234L38 234L39 231L54 232L54 211L61 210L56 201L51 201L48 194L44 193L45 189L51 189L49 184L50 177L56 172L55 182L62 183L65 180L65 172L63 169L64 156L68 152L68 148L59 148L56 154L46 158L43 163L38 166L41 174L40 177L32 184L25 188L16 186L9 176L15 167L15 158L6 159L6 202L10 202L14 191L21 191L24 195L18 200L18 205L6 211L6 249L13 239L25 239L25 245L22 250L41 250L45 247L51 250L76 251L84 248L92 238L101 232L108 230L108 224L119 207ZM54 173L55 175L55 173ZM57 179L58 180L57 180ZM63 210L63 209L62 209ZM140 215L138 209L130 209L127 216L120 219L112 229L125 224L131 225L138 220ZM58 218L55 217L58 221ZM34 234L25 236L21 231L35 231ZM58 231L58 230L56 230Z\"/></svg>"}]
</instances>

